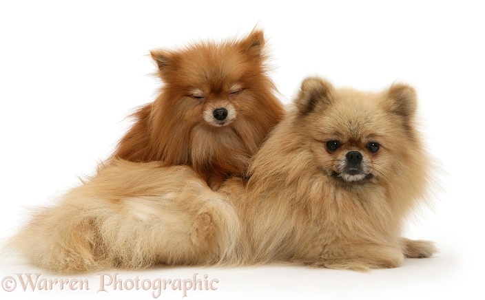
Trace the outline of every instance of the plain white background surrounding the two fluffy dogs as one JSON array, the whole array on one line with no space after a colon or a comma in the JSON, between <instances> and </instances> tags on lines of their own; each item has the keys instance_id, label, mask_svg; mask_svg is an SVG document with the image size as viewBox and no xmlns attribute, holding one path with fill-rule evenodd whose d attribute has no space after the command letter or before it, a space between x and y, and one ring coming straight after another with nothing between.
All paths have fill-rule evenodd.
<instances>
[{"instance_id":1,"label":"plain white background surrounding the two fluffy dogs","mask_svg":"<svg viewBox=\"0 0 485 300\"><path fill-rule=\"evenodd\" d=\"M25 208L79 183L130 125L125 116L159 86L147 54L200 39L242 36L256 24L273 56L272 78L289 102L302 78L378 90L394 81L420 95L426 144L443 191L406 233L441 253L369 273L267 266L162 268L124 279L218 279L189 299L424 299L483 297L484 9L479 1L3 1L0 4L0 237ZM39 272L89 279L89 291L5 292L1 299L152 299L151 291L99 292L94 274L63 277L3 255L0 279ZM111 272L114 275L114 271ZM163 291L159 299L181 299Z\"/></svg>"}]
</instances>

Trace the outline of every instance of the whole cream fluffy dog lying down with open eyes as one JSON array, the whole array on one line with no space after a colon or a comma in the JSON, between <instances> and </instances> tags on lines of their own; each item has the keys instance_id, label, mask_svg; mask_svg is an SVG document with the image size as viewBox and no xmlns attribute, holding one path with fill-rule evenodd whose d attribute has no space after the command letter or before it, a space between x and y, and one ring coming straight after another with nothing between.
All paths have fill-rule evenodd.
<instances>
[{"instance_id":1,"label":"whole cream fluffy dog lying down with open eyes","mask_svg":"<svg viewBox=\"0 0 485 300\"><path fill-rule=\"evenodd\" d=\"M430 160L408 85L383 92L303 81L249 166L211 191L189 167L115 160L11 240L56 272L156 265L393 268L435 246L402 237L426 202Z\"/></svg>"}]
</instances>

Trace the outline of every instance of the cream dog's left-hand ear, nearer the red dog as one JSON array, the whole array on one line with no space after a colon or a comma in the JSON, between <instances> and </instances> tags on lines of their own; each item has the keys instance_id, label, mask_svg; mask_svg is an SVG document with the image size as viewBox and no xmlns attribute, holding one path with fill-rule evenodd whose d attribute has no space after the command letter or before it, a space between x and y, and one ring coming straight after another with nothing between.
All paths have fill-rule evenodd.
<instances>
[{"instance_id":1,"label":"cream dog's left-hand ear, nearer the red dog","mask_svg":"<svg viewBox=\"0 0 485 300\"><path fill-rule=\"evenodd\" d=\"M333 86L319 77L307 77L303 80L295 105L300 114L311 113L319 105L331 104Z\"/></svg>"}]
</instances>

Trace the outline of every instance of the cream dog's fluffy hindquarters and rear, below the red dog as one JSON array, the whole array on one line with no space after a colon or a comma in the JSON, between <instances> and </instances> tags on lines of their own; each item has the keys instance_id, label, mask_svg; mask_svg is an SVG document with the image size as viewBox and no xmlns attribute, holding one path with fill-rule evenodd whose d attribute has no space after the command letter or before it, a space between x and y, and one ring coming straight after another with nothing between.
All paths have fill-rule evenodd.
<instances>
[{"instance_id":1,"label":"cream dog's fluffy hindquarters and rear, below the red dog","mask_svg":"<svg viewBox=\"0 0 485 300\"><path fill-rule=\"evenodd\" d=\"M118 160L38 209L9 244L70 273L217 264L234 257L240 231L234 207L191 168Z\"/></svg>"}]
</instances>

